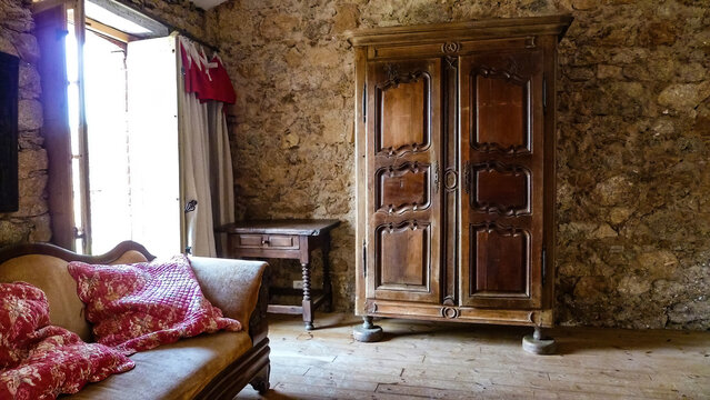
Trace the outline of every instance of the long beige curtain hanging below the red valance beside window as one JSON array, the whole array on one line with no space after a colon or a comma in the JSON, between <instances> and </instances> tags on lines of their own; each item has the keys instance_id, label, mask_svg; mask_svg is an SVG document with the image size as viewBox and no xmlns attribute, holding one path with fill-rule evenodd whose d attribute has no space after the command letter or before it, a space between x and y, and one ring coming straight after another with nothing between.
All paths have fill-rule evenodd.
<instances>
[{"instance_id":1,"label":"long beige curtain hanging below the red valance beside window","mask_svg":"<svg viewBox=\"0 0 710 400\"><path fill-rule=\"evenodd\" d=\"M179 40L186 47L194 46L184 38ZM178 71L183 71L179 56L178 64ZM182 203L197 201L194 211L184 213L186 243L194 256L217 257L214 228L234 219L232 160L224 104L217 101L201 103L194 93L186 93L184 80L179 81Z\"/></svg>"}]
</instances>

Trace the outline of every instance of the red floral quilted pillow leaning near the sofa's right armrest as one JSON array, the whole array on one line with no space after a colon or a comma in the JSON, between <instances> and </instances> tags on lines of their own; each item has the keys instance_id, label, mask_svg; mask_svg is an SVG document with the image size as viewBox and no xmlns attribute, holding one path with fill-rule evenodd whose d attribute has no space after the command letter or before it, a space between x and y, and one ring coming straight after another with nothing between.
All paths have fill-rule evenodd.
<instances>
[{"instance_id":1,"label":"red floral quilted pillow leaning near the sofa's right armrest","mask_svg":"<svg viewBox=\"0 0 710 400\"><path fill-rule=\"evenodd\" d=\"M96 340L124 354L202 332L241 330L204 298L184 256L118 266L74 261L68 269Z\"/></svg>"}]
</instances>

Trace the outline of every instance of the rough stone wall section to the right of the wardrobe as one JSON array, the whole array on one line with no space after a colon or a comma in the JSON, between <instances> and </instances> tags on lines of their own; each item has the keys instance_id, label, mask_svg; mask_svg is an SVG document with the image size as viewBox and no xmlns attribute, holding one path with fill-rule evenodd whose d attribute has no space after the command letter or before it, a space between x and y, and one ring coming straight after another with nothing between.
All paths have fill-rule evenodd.
<instances>
[{"instance_id":1,"label":"rough stone wall section to the right of the wardrobe","mask_svg":"<svg viewBox=\"0 0 710 400\"><path fill-rule=\"evenodd\" d=\"M710 328L710 1L572 6L561 43L559 319Z\"/></svg>"}]
</instances>

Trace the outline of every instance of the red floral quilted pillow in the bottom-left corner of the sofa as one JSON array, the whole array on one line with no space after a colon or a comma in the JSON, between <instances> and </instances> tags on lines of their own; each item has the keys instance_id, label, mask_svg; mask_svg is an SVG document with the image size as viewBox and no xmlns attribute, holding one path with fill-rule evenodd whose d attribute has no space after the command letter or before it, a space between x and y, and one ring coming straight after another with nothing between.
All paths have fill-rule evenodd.
<instances>
[{"instance_id":1,"label":"red floral quilted pillow in the bottom-left corner of the sofa","mask_svg":"<svg viewBox=\"0 0 710 400\"><path fill-rule=\"evenodd\" d=\"M0 399L54 399L133 367L111 348L50 326L40 289L0 283Z\"/></svg>"}]
</instances>

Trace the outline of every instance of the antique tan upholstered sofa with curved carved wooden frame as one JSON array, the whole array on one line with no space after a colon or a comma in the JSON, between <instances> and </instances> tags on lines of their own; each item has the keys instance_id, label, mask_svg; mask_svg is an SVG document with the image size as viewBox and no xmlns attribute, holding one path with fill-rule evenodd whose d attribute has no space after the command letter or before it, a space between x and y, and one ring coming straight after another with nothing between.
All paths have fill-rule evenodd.
<instances>
[{"instance_id":1,"label":"antique tan upholstered sofa with curved carved wooden frame","mask_svg":"<svg viewBox=\"0 0 710 400\"><path fill-rule=\"evenodd\" d=\"M92 341L69 261L131 263L152 260L143 246L126 241L103 256L80 256L51 244L0 250L0 282L26 281L48 297L53 324ZM266 322L267 264L259 261L190 258L204 296L226 317L241 321L240 332L217 332L131 356L136 368L87 384L69 399L232 399L247 383L269 389Z\"/></svg>"}]
</instances>

